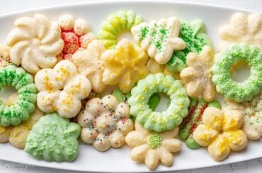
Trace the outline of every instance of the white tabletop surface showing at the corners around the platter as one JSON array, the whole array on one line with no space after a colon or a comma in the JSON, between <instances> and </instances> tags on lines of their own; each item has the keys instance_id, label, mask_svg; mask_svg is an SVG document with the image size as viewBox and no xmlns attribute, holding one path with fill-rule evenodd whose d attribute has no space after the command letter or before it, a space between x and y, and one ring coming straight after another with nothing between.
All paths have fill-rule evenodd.
<instances>
[{"instance_id":1,"label":"white tabletop surface showing at the corners around the platter","mask_svg":"<svg viewBox=\"0 0 262 173\"><path fill-rule=\"evenodd\" d=\"M188 1L188 0L186 0ZM190 0L207 4L217 4L220 6L232 6L245 8L258 12L261 11L262 0ZM28 8L38 8L45 6L57 6L62 4L81 3L83 0L0 0L0 15L14 11L23 11ZM0 24L3 25L3 24ZM1 40L3 42L3 40ZM0 153L1 155L1 153ZM15 157L15 156L14 156ZM196 156L196 159L201 159ZM0 160L0 172L65 172L64 170L47 169L42 167L33 167L30 165L21 165ZM205 169L194 169L181 172L262 172L262 159L239 162L236 164L224 165L219 167L210 167Z\"/></svg>"}]
</instances>

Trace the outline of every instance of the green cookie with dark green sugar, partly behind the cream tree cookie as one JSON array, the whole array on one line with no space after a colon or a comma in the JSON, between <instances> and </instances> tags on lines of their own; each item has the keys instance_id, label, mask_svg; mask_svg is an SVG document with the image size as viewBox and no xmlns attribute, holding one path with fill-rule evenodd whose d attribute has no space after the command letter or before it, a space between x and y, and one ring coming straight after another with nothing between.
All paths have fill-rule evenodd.
<instances>
[{"instance_id":1,"label":"green cookie with dark green sugar, partly behind the cream tree cookie","mask_svg":"<svg viewBox=\"0 0 262 173\"><path fill-rule=\"evenodd\" d=\"M166 64L166 67L172 72L186 68L186 56L189 52L199 54L204 46L212 47L210 38L205 34L205 24L202 20L195 20L191 23L181 21L179 37L186 42L186 48L173 52L171 59Z\"/></svg>"}]
</instances>

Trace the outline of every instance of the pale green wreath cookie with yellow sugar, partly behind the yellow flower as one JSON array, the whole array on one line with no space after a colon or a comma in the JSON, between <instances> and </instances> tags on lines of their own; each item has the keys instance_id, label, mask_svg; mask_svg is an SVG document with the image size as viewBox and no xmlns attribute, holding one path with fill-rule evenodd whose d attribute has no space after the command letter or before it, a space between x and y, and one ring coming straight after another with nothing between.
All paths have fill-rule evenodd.
<instances>
[{"instance_id":1,"label":"pale green wreath cookie with yellow sugar, partly behind the yellow flower","mask_svg":"<svg viewBox=\"0 0 262 173\"><path fill-rule=\"evenodd\" d=\"M103 42L106 49L112 49L118 43L120 32L130 30L142 21L142 17L133 11L113 13L108 17L108 20L102 23L102 29L98 32L98 39Z\"/></svg>"}]
</instances>

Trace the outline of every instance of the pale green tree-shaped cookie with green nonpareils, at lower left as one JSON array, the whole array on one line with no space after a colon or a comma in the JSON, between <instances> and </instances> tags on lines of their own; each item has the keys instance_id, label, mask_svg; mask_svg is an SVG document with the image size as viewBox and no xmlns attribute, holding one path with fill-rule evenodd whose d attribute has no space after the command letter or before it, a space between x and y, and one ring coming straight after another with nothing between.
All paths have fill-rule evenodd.
<instances>
[{"instance_id":1,"label":"pale green tree-shaped cookie with green nonpareils, at lower left","mask_svg":"<svg viewBox=\"0 0 262 173\"><path fill-rule=\"evenodd\" d=\"M81 128L57 113L46 114L33 126L25 143L25 152L37 160L73 161L79 153Z\"/></svg>"}]
</instances>

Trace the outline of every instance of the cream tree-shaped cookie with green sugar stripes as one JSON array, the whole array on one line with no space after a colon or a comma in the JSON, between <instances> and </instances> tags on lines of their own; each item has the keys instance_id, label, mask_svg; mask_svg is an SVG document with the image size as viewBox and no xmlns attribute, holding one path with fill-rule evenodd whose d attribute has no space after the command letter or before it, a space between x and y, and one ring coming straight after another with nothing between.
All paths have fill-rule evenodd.
<instances>
[{"instance_id":1,"label":"cream tree-shaped cookie with green sugar stripes","mask_svg":"<svg viewBox=\"0 0 262 173\"><path fill-rule=\"evenodd\" d=\"M140 23L131 29L135 42L158 64L166 64L174 50L185 49L185 42L178 37L179 31L180 22L174 16Z\"/></svg>"}]
</instances>

